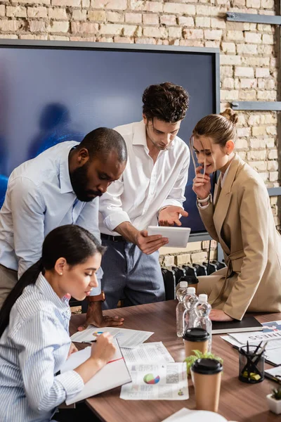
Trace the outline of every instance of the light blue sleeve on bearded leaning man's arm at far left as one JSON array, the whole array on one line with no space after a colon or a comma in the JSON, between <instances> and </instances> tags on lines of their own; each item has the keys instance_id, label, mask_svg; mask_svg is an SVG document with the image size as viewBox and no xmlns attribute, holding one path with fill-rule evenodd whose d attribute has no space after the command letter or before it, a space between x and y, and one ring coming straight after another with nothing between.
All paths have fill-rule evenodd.
<instances>
[{"instance_id":1,"label":"light blue sleeve on bearded leaning man's arm at far left","mask_svg":"<svg viewBox=\"0 0 281 422\"><path fill-rule=\"evenodd\" d=\"M41 258L44 241L44 199L34 182L18 177L9 186L18 278Z\"/></svg>"}]
</instances>

